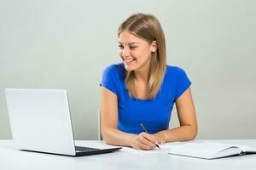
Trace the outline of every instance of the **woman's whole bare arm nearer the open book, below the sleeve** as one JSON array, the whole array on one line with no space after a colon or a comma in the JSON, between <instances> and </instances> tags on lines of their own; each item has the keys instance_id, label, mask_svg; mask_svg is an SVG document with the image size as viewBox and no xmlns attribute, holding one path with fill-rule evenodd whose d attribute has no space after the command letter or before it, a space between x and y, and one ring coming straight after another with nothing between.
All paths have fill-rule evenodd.
<instances>
[{"instance_id":1,"label":"woman's whole bare arm nearer the open book, below the sleeve","mask_svg":"<svg viewBox=\"0 0 256 170\"><path fill-rule=\"evenodd\" d=\"M197 122L190 88L176 100L176 108L180 127L155 133L154 135L161 139L161 143L195 139Z\"/></svg>"}]
</instances>

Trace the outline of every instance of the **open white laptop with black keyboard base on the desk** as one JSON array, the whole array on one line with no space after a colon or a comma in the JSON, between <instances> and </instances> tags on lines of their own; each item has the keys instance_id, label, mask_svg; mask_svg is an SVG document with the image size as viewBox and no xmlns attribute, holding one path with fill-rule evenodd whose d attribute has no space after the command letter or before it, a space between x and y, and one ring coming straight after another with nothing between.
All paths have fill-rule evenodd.
<instances>
[{"instance_id":1,"label":"open white laptop with black keyboard base on the desk","mask_svg":"<svg viewBox=\"0 0 256 170\"><path fill-rule=\"evenodd\" d=\"M15 146L65 156L89 156L121 149L75 146L73 127L64 89L5 89Z\"/></svg>"}]
</instances>

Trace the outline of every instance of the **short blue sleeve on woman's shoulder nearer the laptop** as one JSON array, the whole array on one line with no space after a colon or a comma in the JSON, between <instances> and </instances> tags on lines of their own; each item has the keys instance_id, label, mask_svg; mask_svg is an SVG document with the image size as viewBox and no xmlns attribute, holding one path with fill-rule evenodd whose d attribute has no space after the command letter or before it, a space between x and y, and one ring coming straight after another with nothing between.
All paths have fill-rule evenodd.
<instances>
[{"instance_id":1,"label":"short blue sleeve on woman's shoulder nearer the laptop","mask_svg":"<svg viewBox=\"0 0 256 170\"><path fill-rule=\"evenodd\" d=\"M100 83L100 86L107 88L113 94L117 94L117 86L116 82L114 82L114 74L115 73L115 68L114 65L108 66L102 74L102 82Z\"/></svg>"}]
</instances>

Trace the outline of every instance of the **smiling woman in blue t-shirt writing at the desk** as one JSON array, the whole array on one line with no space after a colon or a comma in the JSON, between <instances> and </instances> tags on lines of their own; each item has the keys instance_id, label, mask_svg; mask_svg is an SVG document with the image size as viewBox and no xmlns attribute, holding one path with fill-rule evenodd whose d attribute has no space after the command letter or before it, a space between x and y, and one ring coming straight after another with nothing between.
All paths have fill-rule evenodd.
<instances>
[{"instance_id":1,"label":"smiling woman in blue t-shirt writing at the desk","mask_svg":"<svg viewBox=\"0 0 256 170\"><path fill-rule=\"evenodd\" d=\"M119 26L118 36L123 63L108 66L101 83L105 142L152 150L158 144L195 139L191 82L181 68L166 65L160 22L151 14L133 14ZM168 129L174 103L180 127Z\"/></svg>"}]
</instances>

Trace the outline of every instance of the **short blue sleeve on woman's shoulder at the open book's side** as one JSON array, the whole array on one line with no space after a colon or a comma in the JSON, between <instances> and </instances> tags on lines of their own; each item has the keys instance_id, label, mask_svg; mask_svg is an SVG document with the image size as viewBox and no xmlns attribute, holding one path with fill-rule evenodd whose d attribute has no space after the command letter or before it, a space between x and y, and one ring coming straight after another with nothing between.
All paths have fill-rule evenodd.
<instances>
[{"instance_id":1,"label":"short blue sleeve on woman's shoulder at the open book's side","mask_svg":"<svg viewBox=\"0 0 256 170\"><path fill-rule=\"evenodd\" d=\"M178 99L191 85L189 77L183 69L177 67L177 85L175 100Z\"/></svg>"}]
</instances>

